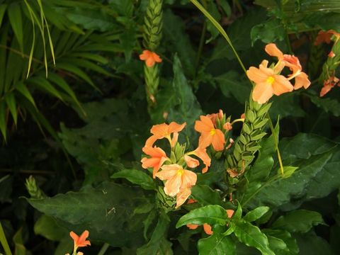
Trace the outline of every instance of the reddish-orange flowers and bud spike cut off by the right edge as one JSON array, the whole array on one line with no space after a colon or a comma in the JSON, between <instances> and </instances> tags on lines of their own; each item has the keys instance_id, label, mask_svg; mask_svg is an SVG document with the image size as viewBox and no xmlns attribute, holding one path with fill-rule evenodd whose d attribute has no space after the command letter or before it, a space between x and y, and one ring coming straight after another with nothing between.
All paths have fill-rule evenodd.
<instances>
[{"instance_id":1,"label":"reddish-orange flowers and bud spike cut off by the right edge","mask_svg":"<svg viewBox=\"0 0 340 255\"><path fill-rule=\"evenodd\" d=\"M320 96L326 95L334 86L340 86L339 79L335 76L336 68L339 66L339 53L340 53L340 33L334 30L319 31L314 45L319 45L322 42L329 44L331 41L334 45L328 54L327 62L324 64L324 72L322 80L324 86L320 91Z\"/></svg>"}]
</instances>

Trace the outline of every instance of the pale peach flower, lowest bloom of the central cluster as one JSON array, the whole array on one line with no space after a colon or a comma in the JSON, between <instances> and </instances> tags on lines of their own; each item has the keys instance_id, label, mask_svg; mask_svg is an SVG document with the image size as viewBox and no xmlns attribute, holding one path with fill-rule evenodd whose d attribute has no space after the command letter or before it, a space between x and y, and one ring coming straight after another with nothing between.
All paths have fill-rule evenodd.
<instances>
[{"instance_id":1,"label":"pale peach flower, lowest bloom of the central cluster","mask_svg":"<svg viewBox=\"0 0 340 255\"><path fill-rule=\"evenodd\" d=\"M166 181L164 184L166 195L176 196L176 208L191 195L190 188L197 181L197 176L193 171L183 169L179 164L162 166L162 171L159 171L156 176L162 181Z\"/></svg>"}]
</instances>

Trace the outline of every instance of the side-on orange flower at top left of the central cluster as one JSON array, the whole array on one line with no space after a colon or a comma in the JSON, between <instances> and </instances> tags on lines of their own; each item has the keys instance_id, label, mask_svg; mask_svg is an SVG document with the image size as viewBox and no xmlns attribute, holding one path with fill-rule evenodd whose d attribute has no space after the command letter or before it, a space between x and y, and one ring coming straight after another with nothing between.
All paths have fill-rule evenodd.
<instances>
[{"instance_id":1,"label":"side-on orange flower at top left of the central cluster","mask_svg":"<svg viewBox=\"0 0 340 255\"><path fill-rule=\"evenodd\" d=\"M163 138L167 138L170 141L171 146L173 145L173 143L176 144L176 138L178 137L178 134L176 133L181 132L181 130L183 130L185 126L186 123L177 124L175 122L171 122L169 125L167 125L166 123L162 123L152 126L152 136L147 139L147 142L145 142L145 147L152 147L152 145L154 145L154 142ZM171 133L174 133L174 137L172 140Z\"/></svg>"}]
</instances>

